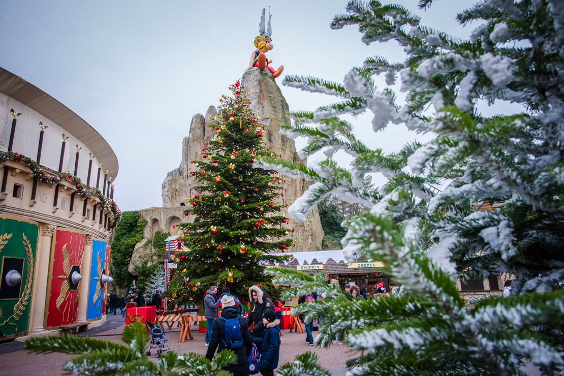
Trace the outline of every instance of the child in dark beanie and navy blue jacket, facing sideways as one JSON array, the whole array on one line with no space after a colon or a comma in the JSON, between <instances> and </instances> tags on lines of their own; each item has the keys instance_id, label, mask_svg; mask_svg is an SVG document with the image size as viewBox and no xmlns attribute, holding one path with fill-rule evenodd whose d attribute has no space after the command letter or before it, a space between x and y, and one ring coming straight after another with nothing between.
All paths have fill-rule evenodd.
<instances>
[{"instance_id":1,"label":"child in dark beanie and navy blue jacket, facing sideways","mask_svg":"<svg viewBox=\"0 0 564 376\"><path fill-rule=\"evenodd\" d=\"M262 315L262 324L265 325L265 331L263 331L262 353L258 366L262 376L274 376L280 356L280 320L277 319L274 311L266 311Z\"/></svg>"}]
</instances>

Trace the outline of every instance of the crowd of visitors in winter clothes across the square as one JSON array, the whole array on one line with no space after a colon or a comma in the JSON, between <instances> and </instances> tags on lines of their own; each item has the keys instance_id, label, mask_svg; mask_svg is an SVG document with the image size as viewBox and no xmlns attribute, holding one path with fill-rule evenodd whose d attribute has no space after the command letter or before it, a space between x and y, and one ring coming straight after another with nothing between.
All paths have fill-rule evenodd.
<instances>
[{"instance_id":1,"label":"crowd of visitors in winter clothes across the square","mask_svg":"<svg viewBox=\"0 0 564 376\"><path fill-rule=\"evenodd\" d=\"M393 283L389 284L391 290L395 288ZM353 298L372 299L373 296L368 293L366 286L356 286L355 284L346 284L345 293L351 294ZM375 294L387 294L385 280L378 282L374 286ZM318 300L318 294L314 291L310 294L302 295L298 298L298 304L309 303ZM146 300L143 293L132 294L129 291L127 297L116 294L108 294L106 301L106 314L113 313L116 315L117 308L121 308L122 317L125 316L126 303L134 302L138 307L146 306ZM231 294L228 287L225 287L218 297L218 286L211 286L204 297L205 319L207 328L205 333L206 358L210 361L213 359L216 351L221 352L226 348L235 352L237 362L224 368L235 376L246 376L250 373L261 372L263 376L274 375L274 370L278 367L280 354L280 337L281 326L280 321L282 311L276 308L272 300L267 297L265 289L262 286L249 287L250 307L248 313L245 313L243 304L235 296ZM157 291L153 295L149 306L161 307L162 298ZM221 314L218 314L221 309ZM246 315L246 318L245 318ZM304 322L306 331L306 344L314 346L315 340L312 335L317 320L305 322L305 318L300 316ZM319 317L319 324L323 322L323 317ZM343 343L334 339L334 345L342 345ZM253 353L258 352L259 360L257 369L253 369ZM258 357L257 355L257 357Z\"/></svg>"}]
</instances>

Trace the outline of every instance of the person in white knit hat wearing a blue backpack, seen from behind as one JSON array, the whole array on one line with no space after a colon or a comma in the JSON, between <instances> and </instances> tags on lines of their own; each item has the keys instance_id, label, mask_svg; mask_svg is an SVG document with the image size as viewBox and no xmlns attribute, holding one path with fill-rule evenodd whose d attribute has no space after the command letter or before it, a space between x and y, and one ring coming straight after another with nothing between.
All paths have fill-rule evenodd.
<instances>
[{"instance_id":1,"label":"person in white knit hat wearing a blue backpack, seen from behind","mask_svg":"<svg viewBox=\"0 0 564 376\"><path fill-rule=\"evenodd\" d=\"M213 359L215 350L218 352L226 348L235 352L237 363L224 367L235 376L249 375L249 355L253 346L250 337L249 326L243 316L239 315L239 308L235 305L235 300L230 295L225 295L221 299L221 317L215 319L211 340L206 352L206 358Z\"/></svg>"}]
</instances>

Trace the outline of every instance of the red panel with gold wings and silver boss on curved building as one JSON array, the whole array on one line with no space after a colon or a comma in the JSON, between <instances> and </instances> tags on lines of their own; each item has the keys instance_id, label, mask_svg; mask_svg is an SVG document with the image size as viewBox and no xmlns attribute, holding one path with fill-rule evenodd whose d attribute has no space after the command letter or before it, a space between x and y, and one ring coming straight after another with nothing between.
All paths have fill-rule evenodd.
<instances>
[{"instance_id":1,"label":"red panel with gold wings and silver boss on curved building","mask_svg":"<svg viewBox=\"0 0 564 376\"><path fill-rule=\"evenodd\" d=\"M58 229L55 244L51 246L51 280L49 308L47 309L46 327L73 324L77 320L78 290L81 283L74 284L72 275L82 270L84 254L84 235Z\"/></svg>"}]
</instances>

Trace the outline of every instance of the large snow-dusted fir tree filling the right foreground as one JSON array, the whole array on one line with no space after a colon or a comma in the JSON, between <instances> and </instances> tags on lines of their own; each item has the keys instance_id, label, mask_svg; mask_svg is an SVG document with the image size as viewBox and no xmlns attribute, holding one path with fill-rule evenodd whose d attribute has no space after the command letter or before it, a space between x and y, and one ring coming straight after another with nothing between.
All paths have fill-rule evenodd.
<instances>
[{"instance_id":1,"label":"large snow-dusted fir tree filling the right foreground","mask_svg":"<svg viewBox=\"0 0 564 376\"><path fill-rule=\"evenodd\" d=\"M431 0L421 0L420 8ZM400 5L351 1L334 29L358 25L363 42L396 41L406 60L374 56L344 83L287 76L284 84L333 94L342 101L296 113L286 128L306 135L301 157L344 149L343 167L328 159L315 169L261 158L261 166L315 182L289 213L302 220L325 194L371 208L347 223L343 253L385 263L402 285L390 297L352 299L320 273L276 271L275 282L295 286L287 296L325 297L293 313L305 321L324 315L316 343L346 342L363 355L347 365L355 375L510 375L525 364L561 374L564 291L564 7L561 1L484 0L457 16L477 24L468 40L420 25ZM405 104L390 87L401 80ZM496 101L504 114L486 116ZM504 102L505 101L505 102ZM355 137L336 116L373 113L364 132L404 124L433 135L386 154ZM364 136L363 139L368 139ZM380 191L362 189L381 172ZM494 205L496 204L496 205ZM494 207L496 209L494 209ZM484 208L487 208L484 210ZM515 278L509 297L465 304L457 278ZM280 375L320 374L296 361Z\"/></svg>"}]
</instances>

